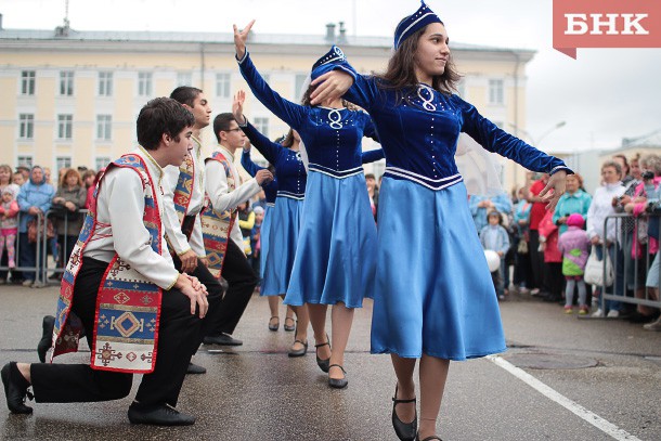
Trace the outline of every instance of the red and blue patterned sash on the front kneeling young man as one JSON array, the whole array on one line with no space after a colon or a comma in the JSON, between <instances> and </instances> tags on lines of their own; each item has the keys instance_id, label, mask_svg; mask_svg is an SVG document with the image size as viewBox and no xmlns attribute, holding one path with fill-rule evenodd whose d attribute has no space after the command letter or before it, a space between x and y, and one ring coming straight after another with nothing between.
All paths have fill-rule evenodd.
<instances>
[{"instance_id":1,"label":"red and blue patterned sash on the front kneeling young man","mask_svg":"<svg viewBox=\"0 0 661 441\"><path fill-rule=\"evenodd\" d=\"M140 156L129 154L114 161L109 167L127 167L140 174L144 191L144 225L152 236L152 249L160 254L160 215L154 195L154 183L146 165ZM82 264L82 250L98 226L96 194L102 180L103 178L96 184L94 204L88 211L62 277L53 329L55 349L52 358L78 350L82 326L80 320L69 312L76 277ZM157 285L115 255L103 275L96 297L91 348L92 368L135 374L154 371L161 294Z\"/></svg>"}]
</instances>

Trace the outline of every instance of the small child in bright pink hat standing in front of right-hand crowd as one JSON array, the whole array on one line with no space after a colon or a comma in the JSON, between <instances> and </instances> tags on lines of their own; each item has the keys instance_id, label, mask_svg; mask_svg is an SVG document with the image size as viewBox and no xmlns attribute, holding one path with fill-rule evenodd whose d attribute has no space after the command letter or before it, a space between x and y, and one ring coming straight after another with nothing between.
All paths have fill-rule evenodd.
<instances>
[{"instance_id":1,"label":"small child in bright pink hat standing in front of right-hand crowd","mask_svg":"<svg viewBox=\"0 0 661 441\"><path fill-rule=\"evenodd\" d=\"M578 212L569 216L567 218L568 229L558 239L558 249L562 252L562 275L567 281L567 287L565 288L565 313L567 314L572 313L571 307L575 285L579 287L579 314L587 314L583 274L589 251L589 237L587 237L587 232L583 230L583 225L585 225L583 216Z\"/></svg>"}]
</instances>

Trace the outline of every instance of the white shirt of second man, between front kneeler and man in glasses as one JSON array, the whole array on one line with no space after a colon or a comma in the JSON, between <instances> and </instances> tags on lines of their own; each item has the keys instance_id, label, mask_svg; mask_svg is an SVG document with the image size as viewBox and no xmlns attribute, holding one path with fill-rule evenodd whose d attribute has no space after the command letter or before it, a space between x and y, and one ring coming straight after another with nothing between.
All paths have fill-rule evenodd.
<instances>
[{"instance_id":1,"label":"white shirt of second man, between front kneeler and man in glasses","mask_svg":"<svg viewBox=\"0 0 661 441\"><path fill-rule=\"evenodd\" d=\"M193 187L191 189L191 202L189 203L189 208L185 212L186 216L195 216L202 210L205 194L205 164L202 156L202 143L194 137L193 142L191 155L194 161L195 176L193 179ZM178 256L192 249L197 257L204 258L206 251L202 236L202 222L199 217L195 218L193 233L191 234L191 241L189 242L185 234L181 232L181 222L179 221L179 216L177 216L177 210L174 209L174 191L177 190L177 183L179 182L179 167L168 166L165 168L165 173L167 184L164 184L164 200L166 205L164 224L170 244Z\"/></svg>"}]
</instances>

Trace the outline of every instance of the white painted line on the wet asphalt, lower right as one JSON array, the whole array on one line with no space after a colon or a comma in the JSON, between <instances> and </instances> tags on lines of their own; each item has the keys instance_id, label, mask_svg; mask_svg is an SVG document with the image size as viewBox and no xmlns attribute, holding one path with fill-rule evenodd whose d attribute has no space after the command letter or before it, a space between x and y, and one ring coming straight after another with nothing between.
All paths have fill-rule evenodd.
<instances>
[{"instance_id":1,"label":"white painted line on the wet asphalt, lower right","mask_svg":"<svg viewBox=\"0 0 661 441\"><path fill-rule=\"evenodd\" d=\"M504 368L521 381L526 382L528 386L532 387L537 392L542 393L544 397L560 404L562 407L578 415L582 419L585 419L587 423L592 424L602 432L611 436L615 440L640 441L638 438L634 437L627 431L620 429L614 424L607 421L594 412L588 411L581 404L568 399L555 389L552 389L550 387L546 386L522 368L515 366L502 356L488 355L487 359L493 362L496 366Z\"/></svg>"}]
</instances>

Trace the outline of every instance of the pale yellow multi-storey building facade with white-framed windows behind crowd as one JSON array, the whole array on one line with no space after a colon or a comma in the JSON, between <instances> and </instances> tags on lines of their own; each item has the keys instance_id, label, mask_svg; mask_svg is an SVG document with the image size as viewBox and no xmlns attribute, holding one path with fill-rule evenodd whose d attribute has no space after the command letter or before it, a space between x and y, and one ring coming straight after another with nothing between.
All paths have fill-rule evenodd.
<instances>
[{"instance_id":1,"label":"pale yellow multi-storey building facade with white-framed windows behind crowd","mask_svg":"<svg viewBox=\"0 0 661 441\"><path fill-rule=\"evenodd\" d=\"M272 88L298 101L312 64L333 43L361 73L383 72L392 46L390 38L346 36L340 24L339 33L328 25L320 35L255 34L248 49ZM464 75L458 93L500 127L524 128L524 67L534 52L461 43L451 49ZM150 99L194 86L217 115L230 112L233 94L247 89L229 33L0 28L0 164L12 166L99 169L137 145L135 119ZM249 94L245 113L271 139L287 131ZM204 131L203 141L210 152L212 130ZM376 146L365 140L363 147ZM504 189L522 184L524 170L501 161ZM366 171L380 176L381 163Z\"/></svg>"}]
</instances>

